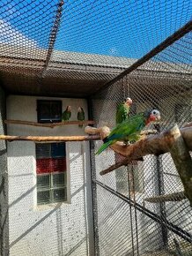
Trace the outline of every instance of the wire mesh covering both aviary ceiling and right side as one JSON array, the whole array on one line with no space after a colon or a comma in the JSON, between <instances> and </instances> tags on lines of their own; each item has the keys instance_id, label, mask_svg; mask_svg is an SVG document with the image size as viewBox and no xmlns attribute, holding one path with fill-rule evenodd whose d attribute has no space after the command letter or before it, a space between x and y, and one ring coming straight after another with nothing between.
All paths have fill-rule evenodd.
<instances>
[{"instance_id":1,"label":"wire mesh covering both aviary ceiling and right side","mask_svg":"<svg viewBox=\"0 0 192 256\"><path fill-rule=\"evenodd\" d=\"M162 117L159 132L174 123L181 127L192 119L190 33L99 89L187 24L191 11L189 0L2 0L1 83L19 94L63 96L73 87L80 97L97 91L91 102L98 126L114 127L117 104L130 96L130 115L155 107ZM95 157L100 145L92 150L97 254L191 255L188 200L146 200L183 190L170 155L146 156L101 177L100 170L119 157L110 149Z\"/></svg>"}]
</instances>

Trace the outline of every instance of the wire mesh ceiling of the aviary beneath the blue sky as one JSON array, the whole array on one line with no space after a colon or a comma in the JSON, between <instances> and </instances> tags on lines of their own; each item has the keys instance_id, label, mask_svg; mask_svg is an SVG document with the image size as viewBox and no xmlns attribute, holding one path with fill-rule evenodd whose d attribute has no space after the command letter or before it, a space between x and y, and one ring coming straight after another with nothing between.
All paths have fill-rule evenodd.
<instances>
[{"instance_id":1,"label":"wire mesh ceiling of the aviary beneath the blue sky","mask_svg":"<svg viewBox=\"0 0 192 256\"><path fill-rule=\"evenodd\" d=\"M2 0L1 78L12 93L68 95L73 86L87 96L186 24L191 9L189 0Z\"/></svg>"}]
</instances>

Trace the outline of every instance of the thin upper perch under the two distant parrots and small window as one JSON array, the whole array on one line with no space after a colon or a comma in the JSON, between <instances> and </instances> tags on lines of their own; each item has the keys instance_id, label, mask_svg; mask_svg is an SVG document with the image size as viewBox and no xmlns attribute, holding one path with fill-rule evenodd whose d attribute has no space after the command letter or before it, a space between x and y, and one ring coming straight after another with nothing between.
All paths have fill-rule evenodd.
<instances>
[{"instance_id":1,"label":"thin upper perch under the two distant parrots and small window","mask_svg":"<svg viewBox=\"0 0 192 256\"><path fill-rule=\"evenodd\" d=\"M30 122L30 121L21 121L21 120L4 120L5 124L24 124L24 125L33 125L33 126L41 126L41 127L48 127L48 128L54 128L55 126L63 126L67 124L95 124L92 120L87 121L64 121L61 123L36 123L36 122Z\"/></svg>"}]
</instances>

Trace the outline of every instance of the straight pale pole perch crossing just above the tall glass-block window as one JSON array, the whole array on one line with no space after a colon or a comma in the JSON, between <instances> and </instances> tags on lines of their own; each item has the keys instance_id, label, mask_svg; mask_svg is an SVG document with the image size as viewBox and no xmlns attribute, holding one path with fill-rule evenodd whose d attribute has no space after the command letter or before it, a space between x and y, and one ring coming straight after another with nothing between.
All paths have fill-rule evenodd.
<instances>
[{"instance_id":1,"label":"straight pale pole perch crossing just above the tall glass-block window","mask_svg":"<svg viewBox=\"0 0 192 256\"><path fill-rule=\"evenodd\" d=\"M0 139L4 140L32 140L32 141L85 141L85 140L97 140L100 139L99 135L92 136L9 136L0 135Z\"/></svg>"}]
</instances>

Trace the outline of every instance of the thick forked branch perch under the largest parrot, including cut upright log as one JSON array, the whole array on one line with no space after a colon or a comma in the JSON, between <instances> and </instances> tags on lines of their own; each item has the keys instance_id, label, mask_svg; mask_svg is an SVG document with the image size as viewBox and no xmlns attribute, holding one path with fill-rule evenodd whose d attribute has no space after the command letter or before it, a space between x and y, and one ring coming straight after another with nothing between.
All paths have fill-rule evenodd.
<instances>
[{"instance_id":1,"label":"thick forked branch perch under the largest parrot, including cut upright log","mask_svg":"<svg viewBox=\"0 0 192 256\"><path fill-rule=\"evenodd\" d=\"M110 133L107 126L100 128L100 138L104 139ZM97 132L98 132L97 131ZM174 125L173 128L161 132L158 135L150 135L145 139L141 139L129 146L122 145L121 142L116 142L111 145L111 148L119 154L126 156L126 160L115 163L107 169L100 172L100 175L126 165L137 158L146 154L165 154L171 153L175 167L181 177L181 182L184 186L184 193L192 207L192 160L189 150L192 150L192 127L178 128Z\"/></svg>"}]
</instances>

